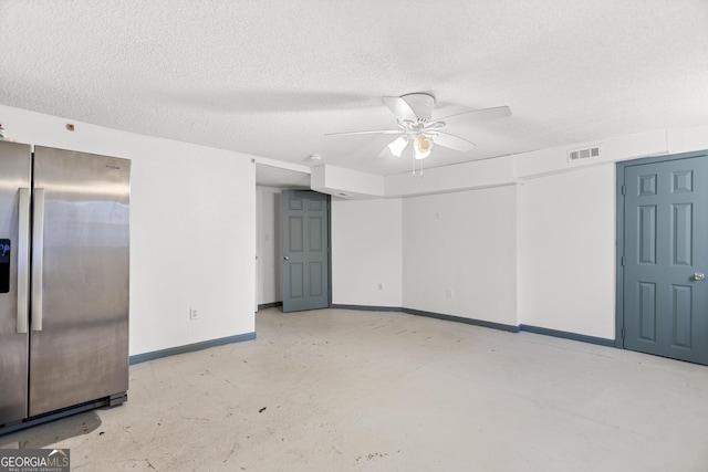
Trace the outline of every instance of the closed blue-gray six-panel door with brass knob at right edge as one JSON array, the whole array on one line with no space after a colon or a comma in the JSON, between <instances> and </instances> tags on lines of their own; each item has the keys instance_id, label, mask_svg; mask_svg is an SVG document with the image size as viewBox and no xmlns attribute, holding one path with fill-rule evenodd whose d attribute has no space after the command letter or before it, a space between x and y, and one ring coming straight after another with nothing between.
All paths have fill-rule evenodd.
<instances>
[{"instance_id":1,"label":"closed blue-gray six-panel door with brass knob at right edge","mask_svg":"<svg viewBox=\"0 0 708 472\"><path fill-rule=\"evenodd\" d=\"M708 156L624 167L624 347L708 364Z\"/></svg>"}]
</instances>

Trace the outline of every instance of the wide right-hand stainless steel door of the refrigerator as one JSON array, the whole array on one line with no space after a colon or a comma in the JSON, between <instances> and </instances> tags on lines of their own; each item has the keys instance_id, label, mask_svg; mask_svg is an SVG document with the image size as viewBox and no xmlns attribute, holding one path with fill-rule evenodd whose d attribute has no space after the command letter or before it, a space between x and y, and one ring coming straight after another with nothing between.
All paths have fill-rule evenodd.
<instances>
[{"instance_id":1,"label":"wide right-hand stainless steel door of the refrigerator","mask_svg":"<svg viewBox=\"0 0 708 472\"><path fill-rule=\"evenodd\" d=\"M129 170L34 148L30 416L128 388Z\"/></svg>"}]
</instances>

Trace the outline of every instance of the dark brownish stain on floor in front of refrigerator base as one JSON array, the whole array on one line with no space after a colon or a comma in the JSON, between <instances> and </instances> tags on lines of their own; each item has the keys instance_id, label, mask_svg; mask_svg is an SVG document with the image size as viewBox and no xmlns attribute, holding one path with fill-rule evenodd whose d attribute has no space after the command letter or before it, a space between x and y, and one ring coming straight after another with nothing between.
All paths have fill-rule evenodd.
<instances>
[{"instance_id":1,"label":"dark brownish stain on floor in front of refrigerator base","mask_svg":"<svg viewBox=\"0 0 708 472\"><path fill-rule=\"evenodd\" d=\"M41 449L69 438L87 434L100 426L98 415L95 411L86 411L0 437L0 449Z\"/></svg>"}]
</instances>

